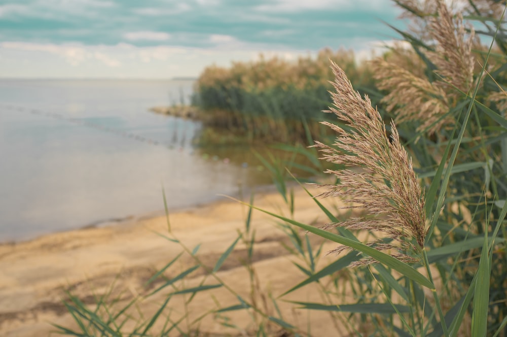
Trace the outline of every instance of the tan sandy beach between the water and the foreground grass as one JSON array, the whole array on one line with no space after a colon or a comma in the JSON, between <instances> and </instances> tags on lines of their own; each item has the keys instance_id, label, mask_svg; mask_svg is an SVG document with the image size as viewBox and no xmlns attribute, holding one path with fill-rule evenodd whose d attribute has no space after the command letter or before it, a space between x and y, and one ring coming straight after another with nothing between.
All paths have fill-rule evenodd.
<instances>
[{"instance_id":1,"label":"tan sandy beach between the water and the foreground grass","mask_svg":"<svg viewBox=\"0 0 507 337\"><path fill-rule=\"evenodd\" d=\"M316 193L316 189L310 190ZM324 223L325 215L314 200L301 187L295 187L294 191L294 218L304 223ZM323 201L328 206L337 204L337 200ZM289 216L289 208L275 192L257 194L254 204ZM212 204L172 211L170 222L175 237L186 246L193 249L198 244L201 245L198 255L206 265L212 267L237 238L237 229L244 228L247 212L246 206L224 198ZM290 245L290 242L277 226L276 219L254 211L251 226L256 231L254 266L259 278L259 289L261 293L271 293L277 297L302 281L304 274L297 270L291 262L294 257L288 255L283 247L283 244ZM56 335L51 333L55 328L50 322L75 327L62 304L66 290L79 295L90 305L93 304L93 296L110 289L113 282L114 292L121 292L125 303L135 296L146 294L144 284L182 251L178 244L169 242L157 233L167 234L165 216L54 233L28 242L0 245L0 335ZM312 241L318 244L319 238L312 237ZM324 249L335 246L333 243L325 243ZM244 253L244 245L239 243L217 275L247 298L249 278L241 265ZM322 258L320 264L329 263L332 259L336 257ZM195 262L190 256L184 255L178 263L173 269L168 269L166 275L175 276ZM202 278L203 272L198 269L186 279L185 287L200 284ZM213 281L207 277L207 283ZM140 311L145 317L150 317L169 292L168 289L143 299L138 304ZM213 294L223 308L237 304L237 299L224 288L213 290ZM300 289L284 299L319 300L317 293L312 291L312 286ZM169 307L174 315L182 315L183 300L184 296L175 296L171 300ZM337 335L329 316L311 313L310 317L307 311L300 312L293 309L294 305L279 302L287 321L305 328L310 319L312 335L329 334L330 331ZM191 302L187 311L190 312L190 317L195 318L205 310L216 308L210 292L202 292ZM244 327L245 331L252 326L244 310L231 312L229 316L235 320L235 324ZM213 320L213 315L202 320L199 329L215 335L228 332ZM229 332L234 331L236 335L239 334L237 330ZM178 333L175 332L175 335Z\"/></svg>"}]
</instances>

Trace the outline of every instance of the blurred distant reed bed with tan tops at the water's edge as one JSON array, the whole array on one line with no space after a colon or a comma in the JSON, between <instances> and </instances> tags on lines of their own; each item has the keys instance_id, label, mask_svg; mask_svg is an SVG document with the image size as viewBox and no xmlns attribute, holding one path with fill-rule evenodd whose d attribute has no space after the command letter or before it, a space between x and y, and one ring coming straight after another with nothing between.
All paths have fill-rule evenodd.
<instances>
[{"instance_id":1,"label":"blurred distant reed bed with tan tops at the water's edge","mask_svg":"<svg viewBox=\"0 0 507 337\"><path fill-rule=\"evenodd\" d=\"M344 68L354 85L373 87L368 63L352 51L322 49L315 58L286 61L278 57L209 66L195 85L193 104L208 126L243 135L249 142L307 142L307 134L327 132L318 124L329 106L329 60Z\"/></svg>"}]
</instances>

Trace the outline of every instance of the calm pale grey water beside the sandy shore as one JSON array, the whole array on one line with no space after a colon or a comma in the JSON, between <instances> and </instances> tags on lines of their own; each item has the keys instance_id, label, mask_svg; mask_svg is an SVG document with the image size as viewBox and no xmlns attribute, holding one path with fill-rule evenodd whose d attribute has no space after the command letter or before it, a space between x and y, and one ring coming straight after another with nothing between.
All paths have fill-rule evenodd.
<instances>
[{"instance_id":1,"label":"calm pale grey water beside the sandy shore","mask_svg":"<svg viewBox=\"0 0 507 337\"><path fill-rule=\"evenodd\" d=\"M0 80L0 242L235 194L248 170L193 148L199 123L148 112L191 81ZM216 159L216 158L215 158Z\"/></svg>"}]
</instances>

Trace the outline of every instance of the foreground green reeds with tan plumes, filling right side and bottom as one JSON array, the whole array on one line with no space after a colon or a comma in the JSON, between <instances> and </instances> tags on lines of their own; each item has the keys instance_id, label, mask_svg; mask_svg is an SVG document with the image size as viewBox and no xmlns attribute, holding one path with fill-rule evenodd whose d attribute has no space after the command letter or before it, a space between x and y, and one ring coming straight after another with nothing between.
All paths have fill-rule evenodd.
<instances>
[{"instance_id":1,"label":"foreground green reeds with tan plumes, filling right side and bottom","mask_svg":"<svg viewBox=\"0 0 507 337\"><path fill-rule=\"evenodd\" d=\"M331 162L327 173L334 182L322 184L322 196L344 199L345 209L325 206L308 192L329 221L297 221L294 190L285 181L291 175L276 157L261 155L286 209L261 209L253 197L240 201L248 207L245 227L211 266L202 261L199 247L187 247L174 236L168 221L169 234L161 235L182 253L151 280L165 282L152 293L171 289L155 314L140 319L129 311L130 302L113 310L102 297L94 308L70 296L67 308L78 329L59 331L205 335L199 323L211 315L224 329L232 329L227 330L231 335L313 335L310 319L282 314L280 308L289 304L295 311L327 315L333 335L507 336L505 3L464 2L460 13L442 1L395 3L413 20L409 31L400 31L412 51L395 47L375 62L383 91L372 94L383 96L383 104L375 109L353 89L340 64L333 64L334 105L328 116L334 120L323 125L334 134L333 141L320 140L312 148L280 146L306 156L308 170L324 171L318 157ZM466 29L465 21L475 32ZM494 43L478 46L474 35ZM393 64L393 59L398 62ZM412 72L404 68L407 64L422 69ZM230 73L214 71L228 83ZM239 125L240 116L234 118L229 122ZM386 124L390 118L394 121ZM255 212L276 219L287 239L281 244L291 256L287 265L303 276L282 293L266 292L265 280L258 277L253 259L257 233L251 226ZM329 242L344 248L324 249ZM247 295L240 295L220 274L240 243L247 251ZM334 258L324 260L330 252ZM193 266L164 278L184 254L194 260ZM187 284L198 269L204 277L197 286ZM319 300L298 297L304 289ZM235 301L221 306L214 295L219 290ZM215 296L216 307L191 319L190 304L203 294ZM171 301L183 295L186 311L172 317ZM246 325L229 318L238 311L247 313ZM151 332L158 320L163 324ZM136 327L126 329L127 321Z\"/></svg>"}]
</instances>

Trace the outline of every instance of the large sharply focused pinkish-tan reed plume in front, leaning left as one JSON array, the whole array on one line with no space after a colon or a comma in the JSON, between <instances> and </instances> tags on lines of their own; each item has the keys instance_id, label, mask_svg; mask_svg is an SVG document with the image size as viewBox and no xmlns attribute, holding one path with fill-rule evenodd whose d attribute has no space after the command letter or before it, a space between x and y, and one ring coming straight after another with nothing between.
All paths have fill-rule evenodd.
<instances>
[{"instance_id":1,"label":"large sharply focused pinkish-tan reed plume in front, leaning left","mask_svg":"<svg viewBox=\"0 0 507 337\"><path fill-rule=\"evenodd\" d=\"M361 98L352 88L343 70L332 62L335 75L331 94L334 113L351 128L345 131L338 125L322 122L338 133L334 146L315 142L323 153L322 159L343 164L344 170L328 170L335 175L338 185L320 185L327 189L319 196L338 196L348 208L365 208L369 214L339 223L330 223L324 228L345 227L381 232L392 239L390 242L376 240L368 243L380 251L389 253L402 261L415 261L407 252L420 251L424 247L425 212L424 197L412 161L400 144L399 135L391 121L391 138L378 111L371 105L367 95ZM339 253L347 247L339 247ZM366 258L355 265L375 262Z\"/></svg>"}]
</instances>

